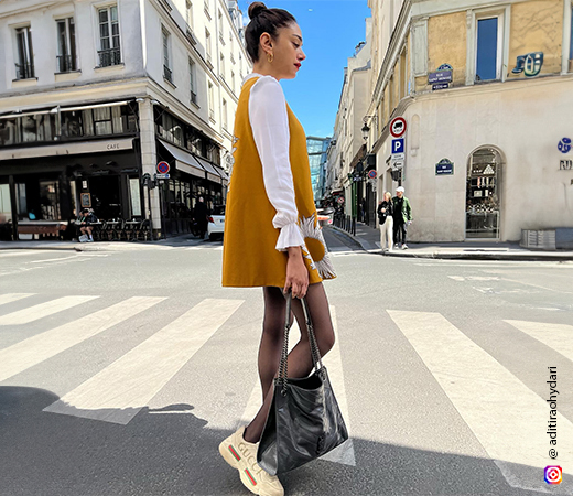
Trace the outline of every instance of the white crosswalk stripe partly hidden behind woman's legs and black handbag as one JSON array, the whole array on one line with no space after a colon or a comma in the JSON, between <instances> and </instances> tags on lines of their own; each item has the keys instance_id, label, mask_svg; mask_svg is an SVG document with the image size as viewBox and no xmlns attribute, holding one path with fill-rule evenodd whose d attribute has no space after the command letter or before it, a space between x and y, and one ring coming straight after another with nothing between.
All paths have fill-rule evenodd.
<instances>
[{"instance_id":1,"label":"white crosswalk stripe partly hidden behind woman's legs and black handbag","mask_svg":"<svg viewBox=\"0 0 573 496\"><path fill-rule=\"evenodd\" d=\"M346 388L344 386L343 362L340 355L340 345L338 342L338 322L336 320L336 309L334 308L334 305L331 305L331 316L334 326L335 344L334 347L328 352L328 354L323 358L323 362L324 366L328 370L328 378L331 379L331 384L336 395L338 407L340 408L340 412L344 417L346 427L348 429L348 433L350 435L350 418L348 414L348 401L346 398ZM294 321L289 335L289 352L296 345L298 341L300 339L300 336L301 331L296 321ZM248 424L259 411L261 403L261 387L259 380L257 380L249 397L249 401L247 402L245 411L241 416L239 425ZM334 463L342 463L344 465L356 466L356 456L354 452L354 444L352 438L349 436L348 441L346 441L343 445L336 448L335 450L322 456L322 460L327 460Z\"/></svg>"}]
</instances>

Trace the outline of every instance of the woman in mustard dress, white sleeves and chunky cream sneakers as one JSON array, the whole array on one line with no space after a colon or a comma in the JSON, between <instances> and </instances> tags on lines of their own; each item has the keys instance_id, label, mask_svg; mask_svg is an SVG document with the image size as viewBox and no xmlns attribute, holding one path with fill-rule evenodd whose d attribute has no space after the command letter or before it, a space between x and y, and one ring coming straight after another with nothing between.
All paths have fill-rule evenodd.
<instances>
[{"instance_id":1,"label":"woman in mustard dress, white sleeves and chunky cream sneakers","mask_svg":"<svg viewBox=\"0 0 573 496\"><path fill-rule=\"evenodd\" d=\"M285 10L249 7L245 37L253 73L242 82L235 117L231 171L223 252L224 287L262 287L264 320L258 355L262 407L245 428L219 445L255 494L282 495L278 477L257 464L260 440L272 401L283 343L285 298L301 341L289 354L289 377L312 370L309 336L300 300L305 296L321 353L334 345L334 330L323 279L335 276L316 218L306 136L286 105L280 79L293 79L306 58L295 19Z\"/></svg>"}]
</instances>

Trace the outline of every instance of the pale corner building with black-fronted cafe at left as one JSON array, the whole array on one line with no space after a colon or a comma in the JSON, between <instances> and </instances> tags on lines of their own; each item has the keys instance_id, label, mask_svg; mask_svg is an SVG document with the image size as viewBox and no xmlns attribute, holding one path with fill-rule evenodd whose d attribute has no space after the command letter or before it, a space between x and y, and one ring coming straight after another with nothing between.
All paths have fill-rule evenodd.
<instances>
[{"instance_id":1,"label":"pale corner building with black-fronted cafe at left","mask_svg":"<svg viewBox=\"0 0 573 496\"><path fill-rule=\"evenodd\" d=\"M82 206L184 233L198 196L224 203L250 72L236 1L9 0L0 46L4 237Z\"/></svg>"}]
</instances>

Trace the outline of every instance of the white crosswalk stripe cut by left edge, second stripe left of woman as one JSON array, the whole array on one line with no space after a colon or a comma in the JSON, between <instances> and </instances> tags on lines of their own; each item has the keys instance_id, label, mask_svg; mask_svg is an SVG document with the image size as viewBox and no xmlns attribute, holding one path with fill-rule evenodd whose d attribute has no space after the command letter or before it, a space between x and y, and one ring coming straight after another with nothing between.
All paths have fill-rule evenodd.
<instances>
[{"instance_id":1,"label":"white crosswalk stripe cut by left edge, second stripe left of woman","mask_svg":"<svg viewBox=\"0 0 573 496\"><path fill-rule=\"evenodd\" d=\"M0 351L0 382L162 302L133 296Z\"/></svg>"}]
</instances>

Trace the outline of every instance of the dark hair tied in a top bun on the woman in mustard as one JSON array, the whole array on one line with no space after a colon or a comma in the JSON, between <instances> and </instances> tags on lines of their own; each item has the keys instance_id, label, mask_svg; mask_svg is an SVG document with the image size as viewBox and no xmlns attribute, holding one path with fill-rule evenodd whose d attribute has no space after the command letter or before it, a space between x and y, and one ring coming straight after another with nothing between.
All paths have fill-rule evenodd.
<instances>
[{"instance_id":1,"label":"dark hair tied in a top bun on the woman in mustard","mask_svg":"<svg viewBox=\"0 0 573 496\"><path fill-rule=\"evenodd\" d=\"M277 39L279 28L295 23L296 19L283 9L267 9L262 2L252 2L249 6L250 22L245 30L247 53L251 62L259 60L259 42L262 33L269 33Z\"/></svg>"}]
</instances>

